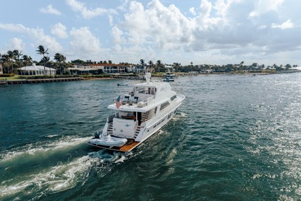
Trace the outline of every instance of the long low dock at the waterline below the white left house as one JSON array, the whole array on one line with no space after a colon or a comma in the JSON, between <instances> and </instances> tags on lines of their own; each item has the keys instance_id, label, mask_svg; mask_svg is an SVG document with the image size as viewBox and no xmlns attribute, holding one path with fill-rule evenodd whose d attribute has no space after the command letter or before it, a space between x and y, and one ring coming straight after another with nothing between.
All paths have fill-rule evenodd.
<instances>
[{"instance_id":1,"label":"long low dock at the waterline below the white left house","mask_svg":"<svg viewBox=\"0 0 301 201\"><path fill-rule=\"evenodd\" d=\"M57 83L57 82L70 82L81 81L83 78L49 78L49 79L27 79L27 80L6 80L7 85L18 84L35 84L35 83ZM1 80L0 80L1 84Z\"/></svg>"}]
</instances>

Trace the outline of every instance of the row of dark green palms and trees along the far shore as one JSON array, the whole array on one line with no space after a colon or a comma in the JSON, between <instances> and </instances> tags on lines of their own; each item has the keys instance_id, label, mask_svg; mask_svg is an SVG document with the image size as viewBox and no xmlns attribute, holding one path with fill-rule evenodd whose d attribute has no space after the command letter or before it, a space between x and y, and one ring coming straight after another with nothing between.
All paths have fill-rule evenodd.
<instances>
[{"instance_id":1,"label":"row of dark green palms and trees along the far shore","mask_svg":"<svg viewBox=\"0 0 301 201\"><path fill-rule=\"evenodd\" d=\"M46 67L54 68L56 69L57 74L67 74L68 71L66 71L66 68L73 67L75 65L77 66L89 66L90 64L111 64L112 61L92 61L92 60L86 60L83 61L81 59L75 59L70 62L66 62L66 56L63 56L63 54L56 53L54 54L54 61L51 61L49 57L49 49L45 49L44 46L39 45L37 47L37 54L41 55L42 58L40 61L33 61L31 56L23 55L22 51L18 51L18 49L15 49L13 51L9 50L6 54L0 54L0 63L2 63L2 66L4 67L4 73L16 73L18 68L24 67L24 66L31 66L32 63L36 63L37 65L44 66L44 70ZM252 65L245 65L244 61L241 61L237 64L226 64L226 65L211 65L211 64L200 64L200 65L194 65L192 62L190 62L190 65L181 65L181 63L163 63L161 60L157 60L156 62L150 60L145 61L145 59L140 59L139 63L126 63L121 62L120 64L123 64L125 66L136 66L137 68L147 69L151 72L166 72L168 71L169 67L173 71L176 72L199 72L199 73L206 73L206 72L235 72L235 71L262 71L262 70L271 70L271 71L282 71L282 70L288 70L292 67L295 67L297 65L291 66L290 64L286 64L283 66L282 64L280 66L274 65L272 66L265 66L264 64L259 65L258 63L252 63Z\"/></svg>"}]
</instances>

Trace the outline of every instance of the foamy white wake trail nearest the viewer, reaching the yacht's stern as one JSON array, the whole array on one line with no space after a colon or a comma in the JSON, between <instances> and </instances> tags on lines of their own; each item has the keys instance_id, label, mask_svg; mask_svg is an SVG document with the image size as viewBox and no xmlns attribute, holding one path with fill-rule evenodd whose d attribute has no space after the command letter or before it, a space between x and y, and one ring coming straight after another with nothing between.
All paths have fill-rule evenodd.
<instances>
[{"instance_id":1,"label":"foamy white wake trail nearest the viewer, reaching the yacht's stern","mask_svg":"<svg viewBox=\"0 0 301 201\"><path fill-rule=\"evenodd\" d=\"M102 176L109 173L113 166L122 163L133 157L132 152L110 154L105 150L90 152L88 155L73 159L71 162L59 162L39 173L32 173L27 176L17 176L0 183L0 200L10 196L41 196L58 193L73 188L78 183L85 183L90 176L92 169L99 169Z\"/></svg>"}]
</instances>

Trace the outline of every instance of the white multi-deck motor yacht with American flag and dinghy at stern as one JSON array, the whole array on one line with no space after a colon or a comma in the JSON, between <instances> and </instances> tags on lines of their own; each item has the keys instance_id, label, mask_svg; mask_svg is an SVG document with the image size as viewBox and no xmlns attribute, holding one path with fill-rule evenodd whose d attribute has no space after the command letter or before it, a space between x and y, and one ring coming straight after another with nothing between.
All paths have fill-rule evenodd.
<instances>
[{"instance_id":1,"label":"white multi-deck motor yacht with American flag and dinghy at stern","mask_svg":"<svg viewBox=\"0 0 301 201\"><path fill-rule=\"evenodd\" d=\"M145 80L108 106L114 113L106 119L102 134L97 131L88 145L130 152L171 121L185 96L177 95L167 82L151 80L150 73Z\"/></svg>"}]
</instances>

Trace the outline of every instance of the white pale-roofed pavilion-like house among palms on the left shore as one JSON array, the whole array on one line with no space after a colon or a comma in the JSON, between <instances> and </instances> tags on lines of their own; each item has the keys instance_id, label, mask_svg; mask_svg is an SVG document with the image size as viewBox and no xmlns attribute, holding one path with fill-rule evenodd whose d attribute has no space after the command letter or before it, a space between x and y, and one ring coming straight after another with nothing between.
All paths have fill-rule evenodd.
<instances>
[{"instance_id":1,"label":"white pale-roofed pavilion-like house among palms on the left shore","mask_svg":"<svg viewBox=\"0 0 301 201\"><path fill-rule=\"evenodd\" d=\"M36 66L32 63L32 66L25 66L18 68L19 75L56 75L56 69L48 68L44 66Z\"/></svg>"}]
</instances>

